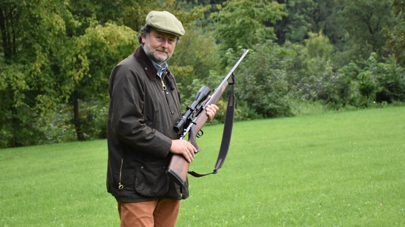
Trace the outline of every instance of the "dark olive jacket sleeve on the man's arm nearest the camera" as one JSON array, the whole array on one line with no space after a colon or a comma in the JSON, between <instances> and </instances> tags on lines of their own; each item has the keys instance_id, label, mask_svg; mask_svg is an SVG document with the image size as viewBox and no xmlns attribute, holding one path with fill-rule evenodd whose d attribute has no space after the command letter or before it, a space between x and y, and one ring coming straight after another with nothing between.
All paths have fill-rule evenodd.
<instances>
[{"instance_id":1,"label":"dark olive jacket sleeve on the man's arm nearest the camera","mask_svg":"<svg viewBox=\"0 0 405 227\"><path fill-rule=\"evenodd\" d=\"M148 127L143 116L144 81L134 70L118 65L111 73L111 129L117 138L137 150L166 157L172 140Z\"/></svg>"}]
</instances>

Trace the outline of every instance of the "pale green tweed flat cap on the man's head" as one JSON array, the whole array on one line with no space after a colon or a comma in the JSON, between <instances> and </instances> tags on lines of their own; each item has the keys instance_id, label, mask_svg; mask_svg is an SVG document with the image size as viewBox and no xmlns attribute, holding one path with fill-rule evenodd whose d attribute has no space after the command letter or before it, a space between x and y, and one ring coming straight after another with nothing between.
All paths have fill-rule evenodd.
<instances>
[{"instance_id":1,"label":"pale green tweed flat cap on the man's head","mask_svg":"<svg viewBox=\"0 0 405 227\"><path fill-rule=\"evenodd\" d=\"M167 32L173 35L184 35L183 25L177 18L167 11L151 11L146 16L146 26L150 26L158 31Z\"/></svg>"}]
</instances>

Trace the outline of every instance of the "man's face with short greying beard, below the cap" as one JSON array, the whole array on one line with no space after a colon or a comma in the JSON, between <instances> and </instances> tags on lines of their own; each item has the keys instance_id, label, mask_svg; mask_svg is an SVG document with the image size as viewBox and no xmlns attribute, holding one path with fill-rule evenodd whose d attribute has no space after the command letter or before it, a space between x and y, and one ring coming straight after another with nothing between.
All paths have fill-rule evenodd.
<instances>
[{"instance_id":1,"label":"man's face with short greying beard, below the cap","mask_svg":"<svg viewBox=\"0 0 405 227\"><path fill-rule=\"evenodd\" d=\"M143 49L146 55L157 64L163 64L173 54L177 36L151 29L148 36L142 34Z\"/></svg>"}]
</instances>

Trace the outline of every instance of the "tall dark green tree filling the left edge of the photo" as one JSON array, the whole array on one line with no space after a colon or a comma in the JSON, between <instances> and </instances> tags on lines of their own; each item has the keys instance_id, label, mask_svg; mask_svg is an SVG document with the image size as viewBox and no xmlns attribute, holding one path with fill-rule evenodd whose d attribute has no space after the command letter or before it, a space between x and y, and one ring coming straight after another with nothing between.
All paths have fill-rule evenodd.
<instances>
[{"instance_id":1,"label":"tall dark green tree filling the left edge of the photo","mask_svg":"<svg viewBox=\"0 0 405 227\"><path fill-rule=\"evenodd\" d=\"M42 124L58 103L60 56L65 35L63 3L2 1L0 29L1 136L4 146L44 137ZM38 26L39 25L39 26Z\"/></svg>"}]
</instances>

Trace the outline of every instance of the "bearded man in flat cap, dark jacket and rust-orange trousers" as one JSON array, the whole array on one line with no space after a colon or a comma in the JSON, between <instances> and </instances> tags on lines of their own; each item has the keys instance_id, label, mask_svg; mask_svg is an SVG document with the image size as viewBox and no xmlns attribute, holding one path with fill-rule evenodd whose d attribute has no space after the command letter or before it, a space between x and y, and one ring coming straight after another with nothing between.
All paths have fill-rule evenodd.
<instances>
[{"instance_id":1,"label":"bearded man in flat cap, dark jacket and rust-orange trousers","mask_svg":"<svg viewBox=\"0 0 405 227\"><path fill-rule=\"evenodd\" d=\"M168 69L184 29L169 12L150 12L140 46L110 76L107 191L118 202L121 226L174 226L180 200L188 197L166 175L173 154L189 162L195 147L177 139L180 93ZM210 105L211 121L218 107Z\"/></svg>"}]
</instances>

